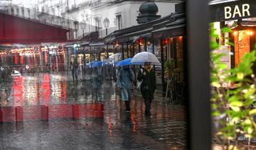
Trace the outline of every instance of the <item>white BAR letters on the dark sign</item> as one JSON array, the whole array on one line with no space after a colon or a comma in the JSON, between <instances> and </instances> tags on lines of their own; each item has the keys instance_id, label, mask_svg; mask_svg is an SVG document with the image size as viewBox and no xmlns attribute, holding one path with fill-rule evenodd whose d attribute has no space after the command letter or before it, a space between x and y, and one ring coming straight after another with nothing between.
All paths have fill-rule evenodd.
<instances>
[{"instance_id":1,"label":"white BAR letters on the dark sign","mask_svg":"<svg viewBox=\"0 0 256 150\"><path fill-rule=\"evenodd\" d=\"M242 13L241 13L242 12ZM238 5L235 5L234 9L230 6L224 7L225 19L235 18L235 17L245 17L250 16L250 5L242 4L242 10L240 10Z\"/></svg>"}]
</instances>

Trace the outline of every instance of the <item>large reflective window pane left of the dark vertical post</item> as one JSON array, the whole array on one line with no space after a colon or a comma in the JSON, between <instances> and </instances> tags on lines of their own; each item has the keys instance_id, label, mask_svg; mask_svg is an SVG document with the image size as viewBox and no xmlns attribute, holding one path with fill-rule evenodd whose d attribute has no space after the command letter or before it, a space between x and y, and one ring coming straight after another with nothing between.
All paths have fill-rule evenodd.
<instances>
[{"instance_id":1,"label":"large reflective window pane left of the dark vertical post","mask_svg":"<svg viewBox=\"0 0 256 150\"><path fill-rule=\"evenodd\" d=\"M188 149L184 5L0 1L2 149Z\"/></svg>"}]
</instances>

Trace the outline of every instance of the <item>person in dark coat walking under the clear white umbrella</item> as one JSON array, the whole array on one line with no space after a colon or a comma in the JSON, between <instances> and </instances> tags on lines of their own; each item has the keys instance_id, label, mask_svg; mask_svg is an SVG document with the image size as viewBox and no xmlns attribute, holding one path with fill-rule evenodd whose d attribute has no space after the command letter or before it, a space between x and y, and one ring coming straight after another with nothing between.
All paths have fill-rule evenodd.
<instances>
[{"instance_id":1,"label":"person in dark coat walking under the clear white umbrella","mask_svg":"<svg viewBox=\"0 0 256 150\"><path fill-rule=\"evenodd\" d=\"M156 75L149 62L146 62L144 67L140 69L137 80L142 81L140 89L145 103L145 115L151 115L151 101L154 99L154 91L156 90Z\"/></svg>"}]
</instances>

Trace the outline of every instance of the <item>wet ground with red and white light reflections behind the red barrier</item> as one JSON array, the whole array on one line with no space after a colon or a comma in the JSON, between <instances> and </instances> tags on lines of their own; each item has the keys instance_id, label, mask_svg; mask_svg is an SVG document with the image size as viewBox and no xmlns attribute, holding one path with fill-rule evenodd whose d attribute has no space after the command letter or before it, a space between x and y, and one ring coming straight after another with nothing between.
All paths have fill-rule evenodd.
<instances>
[{"instance_id":1,"label":"wet ground with red and white light reflections behind the red barrier","mask_svg":"<svg viewBox=\"0 0 256 150\"><path fill-rule=\"evenodd\" d=\"M92 82L73 82L65 74L27 74L14 76L11 96L2 106L55 105L66 103L91 103L114 98L113 82L105 81L100 90Z\"/></svg>"}]
</instances>

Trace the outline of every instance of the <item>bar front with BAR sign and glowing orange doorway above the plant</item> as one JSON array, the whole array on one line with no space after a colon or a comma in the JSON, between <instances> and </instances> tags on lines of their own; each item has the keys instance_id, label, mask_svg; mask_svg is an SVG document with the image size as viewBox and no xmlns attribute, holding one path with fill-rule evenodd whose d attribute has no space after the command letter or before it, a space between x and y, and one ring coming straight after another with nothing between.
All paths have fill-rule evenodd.
<instances>
[{"instance_id":1,"label":"bar front with BAR sign and glowing orange doorway above the plant","mask_svg":"<svg viewBox=\"0 0 256 150\"><path fill-rule=\"evenodd\" d=\"M229 68L238 67L244 54L255 48L256 41L256 1L210 1L210 21L219 35L216 42L220 45L218 52L229 54L222 61ZM230 33L222 33L228 27ZM233 45L230 45L230 42Z\"/></svg>"}]
</instances>

